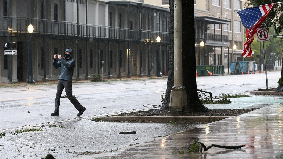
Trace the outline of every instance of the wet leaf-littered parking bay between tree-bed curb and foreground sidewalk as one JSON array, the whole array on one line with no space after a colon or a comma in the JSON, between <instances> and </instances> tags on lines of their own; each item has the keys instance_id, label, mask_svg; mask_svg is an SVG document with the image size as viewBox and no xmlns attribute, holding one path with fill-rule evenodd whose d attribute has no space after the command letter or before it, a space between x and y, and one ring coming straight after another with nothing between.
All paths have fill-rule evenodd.
<instances>
[{"instance_id":1,"label":"wet leaf-littered parking bay between tree-bed curb and foreground sidewalk","mask_svg":"<svg viewBox=\"0 0 283 159\"><path fill-rule=\"evenodd\" d=\"M56 159L73 158L85 151L113 151L130 145L160 139L157 136L201 126L179 123L114 123L90 120L44 126L40 132L25 132L0 139L0 158L40 158L51 153ZM61 128L60 126L65 126ZM119 134L136 131L136 134ZM37 157L36 157L36 155Z\"/></svg>"}]
</instances>

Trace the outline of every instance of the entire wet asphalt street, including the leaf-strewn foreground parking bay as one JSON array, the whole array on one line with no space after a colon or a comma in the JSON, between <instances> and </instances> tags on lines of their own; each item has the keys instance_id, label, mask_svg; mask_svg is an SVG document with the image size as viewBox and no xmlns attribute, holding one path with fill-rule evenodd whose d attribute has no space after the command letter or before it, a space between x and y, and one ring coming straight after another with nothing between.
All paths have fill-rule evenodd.
<instances>
[{"instance_id":1,"label":"entire wet asphalt street, including the leaf-strewn foreground parking bay","mask_svg":"<svg viewBox=\"0 0 283 159\"><path fill-rule=\"evenodd\" d=\"M278 78L280 78L280 72L268 72L268 78L269 88L275 88ZM246 93L250 90L266 87L265 74L263 73L198 77L197 82L198 89L210 91L213 96L221 93ZM87 108L82 117L76 116L77 111L67 98L61 98L60 116L52 117L50 115L55 106L56 85L54 84L1 87L0 130L6 132L7 136L0 140L0 157L18 158L23 157L22 155L25 155L25 157L31 155L28 158L33 158L36 156L35 154L45 155L52 152L58 153L56 154L57 158L72 158L80 152L119 149L124 145L126 147L126 144L151 141L154 139L153 135L163 136L197 127L198 125L193 124L95 123L88 120L91 118L90 116L98 117L108 113L152 107L150 105L144 106L145 104L161 105L159 96L166 91L166 85L166 79L73 83L73 94ZM62 95L65 95L64 91ZM245 104L252 100L254 104ZM270 103L278 103L278 101L282 102L282 99L280 100L277 97L235 99L231 105L222 104L218 108L260 108ZM206 106L213 109L217 108L211 104ZM57 125L66 127L49 128L47 123L57 123ZM31 126L42 127L43 131L15 136L8 135L9 132L23 126L26 128L31 128ZM138 133L130 137L117 134L119 131L127 131L125 130L127 128L128 131L138 130ZM115 135L112 136L112 134ZM134 141L136 138L139 138L139 142ZM64 145L75 147L67 148ZM17 151L17 147L21 151ZM32 153L29 153L26 147L32 147L29 148ZM54 147L56 147L55 151L50 151ZM24 154L23 151L25 151Z\"/></svg>"}]
</instances>

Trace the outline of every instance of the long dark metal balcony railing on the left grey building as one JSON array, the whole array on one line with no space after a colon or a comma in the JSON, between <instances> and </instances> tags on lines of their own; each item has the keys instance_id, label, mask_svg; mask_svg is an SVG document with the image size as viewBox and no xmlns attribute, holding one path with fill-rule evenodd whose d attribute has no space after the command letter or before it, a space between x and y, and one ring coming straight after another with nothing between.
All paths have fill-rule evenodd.
<instances>
[{"instance_id":1,"label":"long dark metal balcony railing on the left grey building","mask_svg":"<svg viewBox=\"0 0 283 159\"><path fill-rule=\"evenodd\" d=\"M13 16L0 16L0 32L7 33L7 22L9 20L12 29L9 29L13 34L28 33L27 26L31 23L34 27L33 33L39 35L51 35L54 38L61 36L61 38L100 38L104 40L123 40L123 41L137 41L142 42L156 42L156 37L162 38L161 42L169 42L169 33L109 27L102 25L82 24L74 22L63 22L55 20L45 20L37 18L24 18ZM86 32L88 30L88 33Z\"/></svg>"}]
</instances>

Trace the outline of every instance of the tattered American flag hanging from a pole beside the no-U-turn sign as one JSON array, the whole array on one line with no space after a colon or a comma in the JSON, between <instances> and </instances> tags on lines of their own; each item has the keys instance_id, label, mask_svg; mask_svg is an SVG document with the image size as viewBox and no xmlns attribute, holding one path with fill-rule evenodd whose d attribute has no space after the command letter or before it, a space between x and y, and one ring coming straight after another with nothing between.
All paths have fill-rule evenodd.
<instances>
[{"instance_id":1,"label":"tattered American flag hanging from a pole beside the no-U-turn sign","mask_svg":"<svg viewBox=\"0 0 283 159\"><path fill-rule=\"evenodd\" d=\"M252 57L251 44L254 40L254 34L268 16L274 4L275 3L271 3L237 11L243 26L246 28L246 42L242 53L243 57Z\"/></svg>"}]
</instances>

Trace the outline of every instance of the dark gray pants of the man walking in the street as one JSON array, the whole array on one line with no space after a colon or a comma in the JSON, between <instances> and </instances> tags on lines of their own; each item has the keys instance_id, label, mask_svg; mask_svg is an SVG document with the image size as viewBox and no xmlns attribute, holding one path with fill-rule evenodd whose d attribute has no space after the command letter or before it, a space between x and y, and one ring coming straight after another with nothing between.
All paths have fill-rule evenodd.
<instances>
[{"instance_id":1,"label":"dark gray pants of the man walking in the street","mask_svg":"<svg viewBox=\"0 0 283 159\"><path fill-rule=\"evenodd\" d=\"M70 102L74 105L74 107L79 111L83 108L83 106L78 102L78 100L73 97L72 91L72 82L67 80L59 80L57 84L57 93L55 98L55 110L54 112L59 113L59 106L60 106L60 98L65 88L66 95Z\"/></svg>"}]
</instances>

